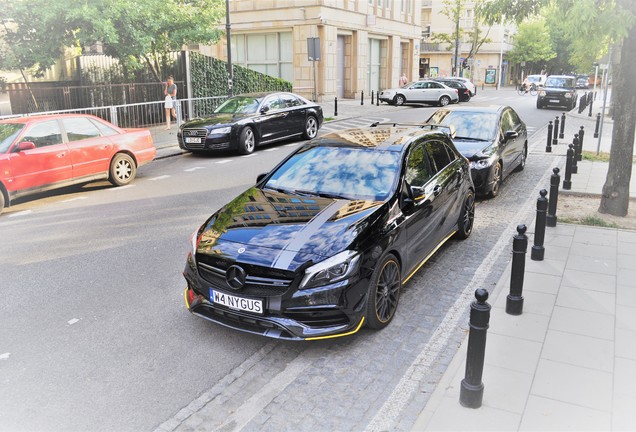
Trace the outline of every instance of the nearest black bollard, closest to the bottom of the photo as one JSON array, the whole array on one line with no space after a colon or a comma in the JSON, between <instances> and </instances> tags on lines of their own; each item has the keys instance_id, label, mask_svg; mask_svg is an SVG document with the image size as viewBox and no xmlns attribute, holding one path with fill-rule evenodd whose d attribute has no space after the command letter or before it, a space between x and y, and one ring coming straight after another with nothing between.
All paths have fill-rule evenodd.
<instances>
[{"instance_id":1,"label":"nearest black bollard, closest to the bottom of the photo","mask_svg":"<svg viewBox=\"0 0 636 432\"><path fill-rule=\"evenodd\" d=\"M466 353L466 374L459 390L459 403L467 408L479 408L484 397L484 372L486 354L486 334L490 321L488 291L475 290L474 301L470 305L470 330L468 333L468 352Z\"/></svg>"}]
</instances>

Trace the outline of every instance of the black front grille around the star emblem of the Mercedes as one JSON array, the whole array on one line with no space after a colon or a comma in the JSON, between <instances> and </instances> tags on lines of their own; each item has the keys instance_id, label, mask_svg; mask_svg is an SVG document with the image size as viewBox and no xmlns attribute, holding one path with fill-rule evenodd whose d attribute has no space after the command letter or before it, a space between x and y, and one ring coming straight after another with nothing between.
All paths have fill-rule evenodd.
<instances>
[{"instance_id":1,"label":"black front grille around the star emblem of the Mercedes","mask_svg":"<svg viewBox=\"0 0 636 432\"><path fill-rule=\"evenodd\" d=\"M206 262L204 262L206 261ZM213 259L207 255L197 257L199 275L212 286L227 289L225 271L233 262ZM247 273L245 286L238 293L254 297L273 297L287 292L293 282L293 274L276 269L240 264ZM284 274L287 273L287 274Z\"/></svg>"}]
</instances>

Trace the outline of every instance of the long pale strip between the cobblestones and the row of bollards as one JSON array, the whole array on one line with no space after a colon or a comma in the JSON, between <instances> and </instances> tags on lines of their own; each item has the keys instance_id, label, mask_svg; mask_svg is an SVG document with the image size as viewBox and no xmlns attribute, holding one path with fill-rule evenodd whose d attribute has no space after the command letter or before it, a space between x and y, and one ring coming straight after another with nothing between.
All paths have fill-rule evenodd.
<instances>
[{"instance_id":1,"label":"long pale strip between the cobblestones and the row of bollards","mask_svg":"<svg viewBox=\"0 0 636 432\"><path fill-rule=\"evenodd\" d=\"M537 185L545 184L551 172L546 172ZM461 325L460 319L464 317L464 311L474 300L476 288L484 286L484 282L490 274L500 255L509 253L506 245L510 242L511 233L516 232L518 221L526 219L532 213L534 197L529 197L519 208L519 211L511 218L511 223L503 230L497 243L490 250L490 253L482 261L475 275L466 285L461 295L457 298L453 306L448 310L444 319L440 322L435 332L431 335L428 343L420 351L415 361L404 373L400 382L393 389L391 395L386 399L384 405L369 422L365 431L387 431L394 430L398 424L400 413L411 400L413 393L419 388L420 383L431 373L431 366L444 350L452 334ZM492 293L490 293L492 294Z\"/></svg>"}]
</instances>

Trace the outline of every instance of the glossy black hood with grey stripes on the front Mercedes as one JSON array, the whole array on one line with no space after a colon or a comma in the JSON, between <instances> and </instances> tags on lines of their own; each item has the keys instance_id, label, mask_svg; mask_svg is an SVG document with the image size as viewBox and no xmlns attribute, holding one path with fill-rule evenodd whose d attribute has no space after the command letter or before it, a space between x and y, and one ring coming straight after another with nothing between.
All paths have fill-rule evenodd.
<instances>
[{"instance_id":1,"label":"glossy black hood with grey stripes on the front Mercedes","mask_svg":"<svg viewBox=\"0 0 636 432\"><path fill-rule=\"evenodd\" d=\"M197 254L295 271L355 248L382 204L254 187L201 227Z\"/></svg>"}]
</instances>

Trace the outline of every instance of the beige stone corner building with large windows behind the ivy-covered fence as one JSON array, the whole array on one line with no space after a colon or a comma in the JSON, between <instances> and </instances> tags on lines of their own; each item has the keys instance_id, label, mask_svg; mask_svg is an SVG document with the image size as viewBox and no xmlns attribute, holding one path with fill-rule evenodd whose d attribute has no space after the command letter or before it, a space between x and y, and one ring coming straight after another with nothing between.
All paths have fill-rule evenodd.
<instances>
[{"instance_id":1,"label":"beige stone corner building with large windows behind the ivy-covered fence","mask_svg":"<svg viewBox=\"0 0 636 432\"><path fill-rule=\"evenodd\" d=\"M419 77L421 0L230 0L232 63L316 100L368 97ZM319 38L320 59L307 40ZM227 59L226 42L201 47ZM315 96L314 96L315 91Z\"/></svg>"}]
</instances>

